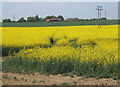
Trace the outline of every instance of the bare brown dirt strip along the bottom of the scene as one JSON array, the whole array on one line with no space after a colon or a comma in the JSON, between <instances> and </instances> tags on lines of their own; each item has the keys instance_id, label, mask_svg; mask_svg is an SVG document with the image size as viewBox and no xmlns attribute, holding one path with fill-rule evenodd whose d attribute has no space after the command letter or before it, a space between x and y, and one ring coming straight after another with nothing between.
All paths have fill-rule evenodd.
<instances>
[{"instance_id":1,"label":"bare brown dirt strip along the bottom of the scene","mask_svg":"<svg viewBox=\"0 0 120 87\"><path fill-rule=\"evenodd\" d=\"M97 78L3 73L3 85L119 85L120 81Z\"/></svg>"}]
</instances>

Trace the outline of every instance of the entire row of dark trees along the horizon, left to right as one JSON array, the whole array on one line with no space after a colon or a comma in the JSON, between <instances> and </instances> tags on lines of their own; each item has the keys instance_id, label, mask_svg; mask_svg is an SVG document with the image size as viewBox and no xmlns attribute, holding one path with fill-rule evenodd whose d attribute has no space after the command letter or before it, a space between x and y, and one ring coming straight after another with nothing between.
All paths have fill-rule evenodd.
<instances>
[{"instance_id":1,"label":"entire row of dark trees along the horizon, left to right","mask_svg":"<svg viewBox=\"0 0 120 87\"><path fill-rule=\"evenodd\" d=\"M27 17L27 19L25 19L24 17L21 17L17 21L11 20L11 19L3 19L2 22L43 22L43 21L46 21L47 19L59 19L59 21L64 21L64 17L62 15L46 16L45 18L42 18L42 17L39 18L39 16L36 15L36 16ZM96 18L93 18L93 19L67 18L65 21L93 21L93 20L98 20L98 19L96 19ZM106 18L103 17L103 18L101 18L101 20L106 20Z\"/></svg>"}]
</instances>

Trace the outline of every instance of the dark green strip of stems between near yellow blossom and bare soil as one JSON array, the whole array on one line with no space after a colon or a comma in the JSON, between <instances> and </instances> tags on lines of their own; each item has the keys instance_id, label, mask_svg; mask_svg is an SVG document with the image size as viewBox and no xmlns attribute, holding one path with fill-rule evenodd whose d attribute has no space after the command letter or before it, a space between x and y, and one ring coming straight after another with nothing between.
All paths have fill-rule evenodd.
<instances>
[{"instance_id":1,"label":"dark green strip of stems between near yellow blossom and bare soil","mask_svg":"<svg viewBox=\"0 0 120 87\"><path fill-rule=\"evenodd\" d=\"M81 62L77 59L74 60L50 60L47 62L37 61L33 62L22 58L7 58L3 62L3 72L12 73L34 73L40 72L43 74L65 74L72 72L74 75L87 76L87 77L99 77L99 78L116 78L119 79L118 70L120 64L109 64L103 66L96 62Z\"/></svg>"}]
</instances>

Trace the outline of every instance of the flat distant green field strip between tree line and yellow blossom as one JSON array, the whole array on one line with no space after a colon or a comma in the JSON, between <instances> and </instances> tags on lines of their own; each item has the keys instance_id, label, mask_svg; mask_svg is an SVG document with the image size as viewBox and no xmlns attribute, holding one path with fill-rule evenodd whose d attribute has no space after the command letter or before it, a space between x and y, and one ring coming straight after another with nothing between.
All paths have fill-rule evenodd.
<instances>
[{"instance_id":1,"label":"flat distant green field strip between tree line and yellow blossom","mask_svg":"<svg viewBox=\"0 0 120 87\"><path fill-rule=\"evenodd\" d=\"M117 25L118 20L92 21L62 21L62 22L11 22L2 23L2 27L49 27L49 26L79 26L79 25Z\"/></svg>"}]
</instances>

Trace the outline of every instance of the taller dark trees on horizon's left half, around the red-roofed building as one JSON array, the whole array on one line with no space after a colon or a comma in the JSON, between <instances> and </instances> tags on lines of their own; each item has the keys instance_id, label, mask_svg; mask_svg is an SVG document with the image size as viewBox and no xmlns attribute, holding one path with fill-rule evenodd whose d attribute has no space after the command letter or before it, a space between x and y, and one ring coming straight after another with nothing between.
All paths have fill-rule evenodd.
<instances>
[{"instance_id":1,"label":"taller dark trees on horizon's left half, around the red-roofed building","mask_svg":"<svg viewBox=\"0 0 120 87\"><path fill-rule=\"evenodd\" d=\"M2 22L42 22L42 21L46 21L47 19L60 19L61 21L64 21L64 17L62 15L59 16L46 16L45 18L39 18L38 15L36 16L30 16L27 17L27 19L25 19L24 17L21 17L20 19L18 19L17 21L15 20L11 20L11 19L3 19Z\"/></svg>"}]
</instances>

